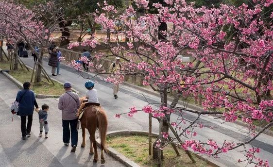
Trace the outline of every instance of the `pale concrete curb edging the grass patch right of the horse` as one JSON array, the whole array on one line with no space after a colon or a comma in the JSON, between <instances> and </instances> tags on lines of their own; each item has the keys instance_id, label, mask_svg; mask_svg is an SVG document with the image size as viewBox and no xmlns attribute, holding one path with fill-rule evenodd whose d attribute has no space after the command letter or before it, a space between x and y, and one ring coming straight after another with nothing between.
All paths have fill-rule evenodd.
<instances>
[{"instance_id":1,"label":"pale concrete curb edging the grass patch right of the horse","mask_svg":"<svg viewBox=\"0 0 273 167\"><path fill-rule=\"evenodd\" d=\"M113 137L113 136L130 136L130 135L148 135L149 133L146 131L111 131L107 133L107 136ZM156 133L152 133L153 136L158 136ZM97 145L101 148L101 139L97 138ZM126 158L124 155L119 153L117 150L107 147L108 153L110 156L124 164L126 167L141 167L137 165L135 162L131 161L130 159ZM193 152L192 152L193 153ZM214 166L214 167L226 167L225 165L211 159L207 158L204 155L195 154L198 158L205 161L207 164ZM208 160L210 159L210 160Z\"/></svg>"}]
</instances>

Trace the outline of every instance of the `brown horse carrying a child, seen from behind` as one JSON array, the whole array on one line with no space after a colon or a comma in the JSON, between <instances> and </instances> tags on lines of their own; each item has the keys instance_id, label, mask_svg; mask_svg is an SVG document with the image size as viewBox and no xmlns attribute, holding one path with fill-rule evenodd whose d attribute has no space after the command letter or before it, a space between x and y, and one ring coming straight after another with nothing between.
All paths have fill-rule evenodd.
<instances>
[{"instance_id":1,"label":"brown horse carrying a child, seen from behind","mask_svg":"<svg viewBox=\"0 0 273 167\"><path fill-rule=\"evenodd\" d=\"M85 100L85 97L80 98L81 103ZM85 147L85 128L88 130L90 134L90 152L89 154L94 154L95 150L95 156L93 162L98 162L98 151L97 151L97 143L95 139L95 132L97 128L100 131L100 136L101 136L101 147L102 147L102 152L101 152L101 163L105 163L104 159L104 150L107 151L105 147L105 140L106 140L106 132L107 132L107 116L105 114L105 111L95 105L91 105L85 108L85 112L83 114L83 117L80 119L81 120L81 127L83 130L83 143L81 147Z\"/></svg>"}]
</instances>

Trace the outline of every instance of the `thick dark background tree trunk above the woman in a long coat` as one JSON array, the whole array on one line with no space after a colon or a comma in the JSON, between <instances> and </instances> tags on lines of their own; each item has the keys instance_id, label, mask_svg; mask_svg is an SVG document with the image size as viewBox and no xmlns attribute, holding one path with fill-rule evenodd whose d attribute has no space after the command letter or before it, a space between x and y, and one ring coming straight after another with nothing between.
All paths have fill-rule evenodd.
<instances>
[{"instance_id":1,"label":"thick dark background tree trunk above the woman in a long coat","mask_svg":"<svg viewBox=\"0 0 273 167\"><path fill-rule=\"evenodd\" d=\"M71 24L72 24L72 21L68 21L68 22L64 20L59 21L59 27L62 32L60 47L68 45L70 43L70 40L69 40L70 31L68 29L68 26L70 26Z\"/></svg>"}]
</instances>

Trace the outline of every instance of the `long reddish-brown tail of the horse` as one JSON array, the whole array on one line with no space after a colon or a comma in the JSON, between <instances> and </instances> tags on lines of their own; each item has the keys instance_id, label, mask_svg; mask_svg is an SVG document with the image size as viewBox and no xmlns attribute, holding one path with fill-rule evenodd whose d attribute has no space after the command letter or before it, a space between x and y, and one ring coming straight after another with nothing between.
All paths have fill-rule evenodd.
<instances>
[{"instance_id":1,"label":"long reddish-brown tail of the horse","mask_svg":"<svg viewBox=\"0 0 273 167\"><path fill-rule=\"evenodd\" d=\"M107 152L105 142L106 142L108 122L107 122L106 113L103 111L102 108L97 109L97 119L98 119L98 128L99 128L100 136L101 136L101 147L102 147L102 150L105 150Z\"/></svg>"}]
</instances>

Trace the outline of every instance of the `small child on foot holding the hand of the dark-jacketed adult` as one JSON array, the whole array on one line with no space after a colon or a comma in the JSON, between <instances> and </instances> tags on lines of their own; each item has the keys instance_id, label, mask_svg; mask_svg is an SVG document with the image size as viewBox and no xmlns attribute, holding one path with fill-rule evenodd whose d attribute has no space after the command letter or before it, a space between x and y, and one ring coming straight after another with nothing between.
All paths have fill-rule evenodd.
<instances>
[{"instance_id":1,"label":"small child on foot holding the hand of the dark-jacketed adult","mask_svg":"<svg viewBox=\"0 0 273 167\"><path fill-rule=\"evenodd\" d=\"M45 138L48 138L49 127L48 127L47 118L48 118L49 106L47 104L43 104L41 110L35 109L35 111L39 115L39 122L40 122L40 134L39 134L39 136L40 137L43 136L43 128L45 128L45 133L46 133Z\"/></svg>"}]
</instances>

